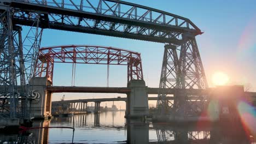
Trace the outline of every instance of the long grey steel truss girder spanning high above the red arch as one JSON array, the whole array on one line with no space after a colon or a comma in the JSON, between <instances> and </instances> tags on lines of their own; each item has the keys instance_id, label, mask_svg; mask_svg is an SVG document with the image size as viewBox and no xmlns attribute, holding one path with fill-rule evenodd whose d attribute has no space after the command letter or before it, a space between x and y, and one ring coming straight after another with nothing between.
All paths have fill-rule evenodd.
<instances>
[{"instance_id":1,"label":"long grey steel truss girder spanning high above the red arch","mask_svg":"<svg viewBox=\"0 0 256 144\"><path fill-rule=\"evenodd\" d=\"M2 1L15 8L18 25L31 26L39 14L42 28L176 44L183 33L202 33L185 17L123 1Z\"/></svg>"}]
</instances>

